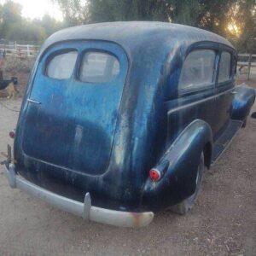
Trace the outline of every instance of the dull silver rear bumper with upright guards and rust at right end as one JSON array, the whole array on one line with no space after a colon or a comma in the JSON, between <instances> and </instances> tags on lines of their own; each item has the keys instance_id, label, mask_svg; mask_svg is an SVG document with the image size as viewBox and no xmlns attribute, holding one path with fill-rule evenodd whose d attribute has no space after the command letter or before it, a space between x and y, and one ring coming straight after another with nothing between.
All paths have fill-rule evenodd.
<instances>
[{"instance_id":1,"label":"dull silver rear bumper with upright guards and rust at right end","mask_svg":"<svg viewBox=\"0 0 256 256\"><path fill-rule=\"evenodd\" d=\"M143 227L150 224L154 218L153 212L120 212L93 207L90 201L90 193L84 196L84 203L74 201L46 189L42 189L19 175L16 175L14 165L9 165L9 168L5 166L4 169L11 188L26 191L28 194L47 201L49 204L63 211L71 212L84 219L119 227Z\"/></svg>"}]
</instances>

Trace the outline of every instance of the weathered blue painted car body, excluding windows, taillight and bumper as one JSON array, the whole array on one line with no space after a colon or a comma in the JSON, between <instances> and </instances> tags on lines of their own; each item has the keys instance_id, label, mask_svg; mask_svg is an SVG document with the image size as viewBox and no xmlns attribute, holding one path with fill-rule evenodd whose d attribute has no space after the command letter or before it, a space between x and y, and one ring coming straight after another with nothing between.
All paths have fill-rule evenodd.
<instances>
[{"instance_id":1,"label":"weathered blue painted car body, excluding windows, taillight and bumper","mask_svg":"<svg viewBox=\"0 0 256 256\"><path fill-rule=\"evenodd\" d=\"M75 73L67 81L46 78L47 56L70 47L79 55L84 49L113 53L121 63L119 78L104 85L81 83ZM193 49L216 51L215 83L179 95L183 61ZM141 212L182 201L195 190L202 148L210 145L211 158L211 147L230 121L235 79L218 84L222 50L236 57L218 35L160 22L96 24L55 33L38 55L22 104L16 171L79 201L90 192L98 207ZM42 106L28 104L29 97ZM165 170L157 185L148 180L154 166Z\"/></svg>"}]
</instances>

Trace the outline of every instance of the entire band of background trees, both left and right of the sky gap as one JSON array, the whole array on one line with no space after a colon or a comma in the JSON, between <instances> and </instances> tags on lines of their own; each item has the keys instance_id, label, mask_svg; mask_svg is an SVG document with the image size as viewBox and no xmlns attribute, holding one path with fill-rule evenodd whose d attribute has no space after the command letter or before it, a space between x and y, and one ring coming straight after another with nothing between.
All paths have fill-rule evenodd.
<instances>
[{"instance_id":1,"label":"entire band of background trees, both left and right of the sky gap","mask_svg":"<svg viewBox=\"0 0 256 256\"><path fill-rule=\"evenodd\" d=\"M64 21L21 17L13 1L0 4L0 39L41 42L65 26L117 20L159 20L198 26L216 32L241 51L256 52L255 0L52 0ZM234 31L228 29L234 26ZM237 26L237 27L236 27Z\"/></svg>"}]
</instances>

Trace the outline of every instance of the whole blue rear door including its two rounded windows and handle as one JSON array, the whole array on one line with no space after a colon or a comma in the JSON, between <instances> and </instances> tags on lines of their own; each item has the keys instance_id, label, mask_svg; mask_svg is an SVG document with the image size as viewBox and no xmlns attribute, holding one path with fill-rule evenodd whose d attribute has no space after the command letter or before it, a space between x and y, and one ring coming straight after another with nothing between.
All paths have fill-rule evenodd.
<instances>
[{"instance_id":1,"label":"whole blue rear door including its two rounded windows and handle","mask_svg":"<svg viewBox=\"0 0 256 256\"><path fill-rule=\"evenodd\" d=\"M46 50L24 106L23 153L73 172L106 172L127 70L116 44L70 42Z\"/></svg>"}]
</instances>

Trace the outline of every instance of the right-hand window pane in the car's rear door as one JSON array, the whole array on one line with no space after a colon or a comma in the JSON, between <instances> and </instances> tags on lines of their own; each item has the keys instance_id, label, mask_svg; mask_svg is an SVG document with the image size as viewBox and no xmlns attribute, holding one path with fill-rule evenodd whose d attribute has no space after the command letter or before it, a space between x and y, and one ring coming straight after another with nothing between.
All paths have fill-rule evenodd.
<instances>
[{"instance_id":1,"label":"right-hand window pane in the car's rear door","mask_svg":"<svg viewBox=\"0 0 256 256\"><path fill-rule=\"evenodd\" d=\"M119 72L119 61L115 56L90 51L84 54L79 79L87 83L109 83Z\"/></svg>"}]
</instances>

